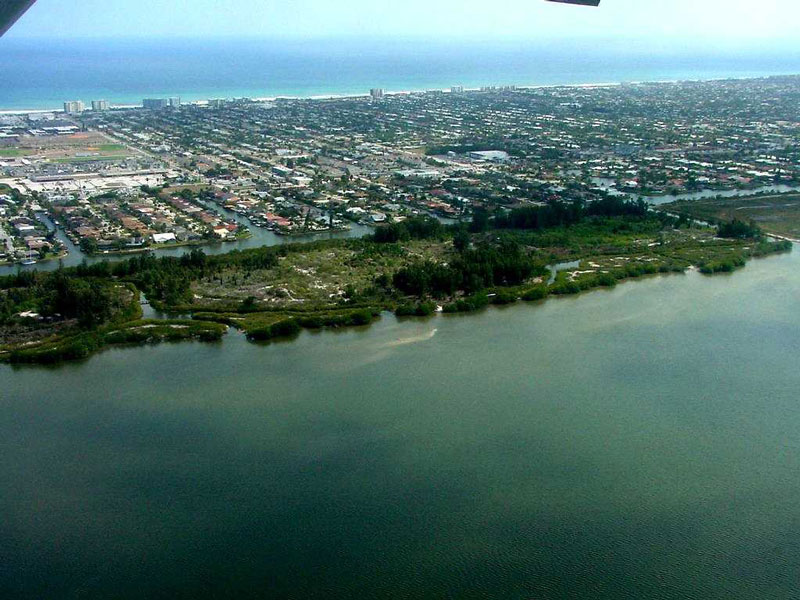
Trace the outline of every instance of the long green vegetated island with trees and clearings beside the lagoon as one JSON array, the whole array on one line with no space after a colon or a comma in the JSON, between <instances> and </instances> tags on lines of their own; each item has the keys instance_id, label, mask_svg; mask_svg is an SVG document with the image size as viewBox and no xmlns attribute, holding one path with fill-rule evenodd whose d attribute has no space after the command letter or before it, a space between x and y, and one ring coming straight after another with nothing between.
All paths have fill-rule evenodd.
<instances>
[{"instance_id":1,"label":"long green vegetated island with trees and clearings beside the lagoon","mask_svg":"<svg viewBox=\"0 0 800 600\"><path fill-rule=\"evenodd\" d=\"M54 363L109 346L216 341L228 326L267 341L304 328L368 325L387 310L470 312L691 267L730 272L791 248L738 221L703 227L612 197L477 211L468 225L416 217L362 239L217 256L142 254L0 278L0 360ZM547 266L566 262L578 266L555 275ZM141 293L160 311L188 316L144 320Z\"/></svg>"}]
</instances>

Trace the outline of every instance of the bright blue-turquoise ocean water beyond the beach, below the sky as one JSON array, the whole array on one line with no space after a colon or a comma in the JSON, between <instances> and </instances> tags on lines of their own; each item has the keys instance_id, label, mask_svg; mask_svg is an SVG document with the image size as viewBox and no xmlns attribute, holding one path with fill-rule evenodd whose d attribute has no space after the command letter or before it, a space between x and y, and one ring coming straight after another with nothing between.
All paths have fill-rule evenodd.
<instances>
[{"instance_id":1,"label":"bright blue-turquoise ocean water beyond the beach, below the sky","mask_svg":"<svg viewBox=\"0 0 800 600\"><path fill-rule=\"evenodd\" d=\"M146 96L315 96L800 73L800 45L738 50L602 41L0 40L0 109Z\"/></svg>"}]
</instances>

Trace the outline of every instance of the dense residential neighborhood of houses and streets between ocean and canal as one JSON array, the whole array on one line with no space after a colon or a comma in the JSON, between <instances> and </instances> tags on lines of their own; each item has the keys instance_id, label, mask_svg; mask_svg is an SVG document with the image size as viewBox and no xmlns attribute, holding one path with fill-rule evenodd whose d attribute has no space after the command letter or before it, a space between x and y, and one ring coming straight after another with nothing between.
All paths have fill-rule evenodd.
<instances>
[{"instance_id":1,"label":"dense residential neighborhood of houses and streets between ocean and canal","mask_svg":"<svg viewBox=\"0 0 800 600\"><path fill-rule=\"evenodd\" d=\"M798 77L151 100L0 116L0 260L800 186Z\"/></svg>"}]
</instances>

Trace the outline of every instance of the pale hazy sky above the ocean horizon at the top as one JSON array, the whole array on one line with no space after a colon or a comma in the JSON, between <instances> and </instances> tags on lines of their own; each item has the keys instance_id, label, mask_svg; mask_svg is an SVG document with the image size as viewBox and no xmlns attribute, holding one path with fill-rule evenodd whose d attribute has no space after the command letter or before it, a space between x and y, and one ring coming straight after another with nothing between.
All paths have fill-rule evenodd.
<instances>
[{"instance_id":1,"label":"pale hazy sky above the ocean horizon at the top","mask_svg":"<svg viewBox=\"0 0 800 600\"><path fill-rule=\"evenodd\" d=\"M543 0L38 0L8 35L653 36L791 41L798 0L602 0L599 9ZM798 42L800 45L800 42Z\"/></svg>"}]
</instances>

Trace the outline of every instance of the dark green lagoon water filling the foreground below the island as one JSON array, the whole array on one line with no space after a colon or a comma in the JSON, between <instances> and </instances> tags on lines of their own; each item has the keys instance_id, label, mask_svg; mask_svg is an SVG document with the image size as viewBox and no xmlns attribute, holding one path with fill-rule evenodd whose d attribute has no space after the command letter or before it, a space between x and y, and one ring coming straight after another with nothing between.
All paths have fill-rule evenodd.
<instances>
[{"instance_id":1,"label":"dark green lagoon water filling the foreground below the island","mask_svg":"<svg viewBox=\"0 0 800 600\"><path fill-rule=\"evenodd\" d=\"M2 598L800 598L800 253L0 368Z\"/></svg>"}]
</instances>

